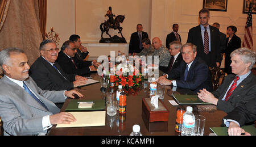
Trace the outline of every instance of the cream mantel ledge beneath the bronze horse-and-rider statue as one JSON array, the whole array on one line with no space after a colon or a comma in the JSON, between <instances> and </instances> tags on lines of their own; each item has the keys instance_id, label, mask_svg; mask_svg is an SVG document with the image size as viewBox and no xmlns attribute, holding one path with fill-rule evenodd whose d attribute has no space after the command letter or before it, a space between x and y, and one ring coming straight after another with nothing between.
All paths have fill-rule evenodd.
<instances>
[{"instance_id":1,"label":"cream mantel ledge beneath the bronze horse-and-rider statue","mask_svg":"<svg viewBox=\"0 0 256 147\"><path fill-rule=\"evenodd\" d=\"M109 56L110 51L115 52L115 56L118 56L118 51L128 55L129 44L127 43L98 43L98 42L86 42L82 43L82 46L86 47L89 52L88 60L97 60L98 56Z\"/></svg>"}]
</instances>

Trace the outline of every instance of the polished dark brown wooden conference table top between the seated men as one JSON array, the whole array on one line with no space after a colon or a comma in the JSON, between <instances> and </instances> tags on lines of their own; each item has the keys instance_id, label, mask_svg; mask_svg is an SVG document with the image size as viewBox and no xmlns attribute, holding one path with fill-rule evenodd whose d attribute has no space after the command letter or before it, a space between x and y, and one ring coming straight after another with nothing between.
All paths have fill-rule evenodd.
<instances>
[{"instance_id":1,"label":"polished dark brown wooden conference table top between the seated men","mask_svg":"<svg viewBox=\"0 0 256 147\"><path fill-rule=\"evenodd\" d=\"M92 79L100 81L100 76L96 73L90 74ZM172 93L174 90L172 86L164 86L164 99L162 100L164 106L169 111L168 122L148 122L142 113L142 99L148 98L148 88L142 84L135 88L129 89L127 93L127 112L126 114L119 114L115 116L105 115L105 126L98 127L72 127L72 128L56 128L56 125L48 132L50 136L129 136L133 131L133 125L138 124L141 127L143 136L179 136L180 133L175 131L175 120L178 108L185 108L187 105L172 106L168 100L174 100ZM81 99L106 99L106 93L100 91L100 83L76 88L84 94ZM117 87L114 87L114 92ZM191 90L176 89L177 94L195 94ZM61 111L65 111L71 98L67 98ZM193 107L193 114L200 114L206 117L204 135L212 133L210 127L221 127L222 118L226 115L224 111L216 109L212 104L189 105Z\"/></svg>"}]
</instances>

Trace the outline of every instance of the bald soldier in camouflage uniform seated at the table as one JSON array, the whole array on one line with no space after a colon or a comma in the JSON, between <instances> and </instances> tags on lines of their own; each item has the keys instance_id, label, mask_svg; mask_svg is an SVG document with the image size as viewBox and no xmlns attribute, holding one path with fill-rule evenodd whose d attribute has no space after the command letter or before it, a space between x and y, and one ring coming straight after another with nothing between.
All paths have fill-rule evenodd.
<instances>
[{"instance_id":1,"label":"bald soldier in camouflage uniform seated at the table","mask_svg":"<svg viewBox=\"0 0 256 147\"><path fill-rule=\"evenodd\" d=\"M162 41L159 39L159 37L154 37L152 39L152 45L155 48L155 51L150 55L152 55L152 57L159 56L158 65L160 70L162 67L166 68L171 58L170 52L166 47L164 47L164 45L162 45Z\"/></svg>"}]
</instances>

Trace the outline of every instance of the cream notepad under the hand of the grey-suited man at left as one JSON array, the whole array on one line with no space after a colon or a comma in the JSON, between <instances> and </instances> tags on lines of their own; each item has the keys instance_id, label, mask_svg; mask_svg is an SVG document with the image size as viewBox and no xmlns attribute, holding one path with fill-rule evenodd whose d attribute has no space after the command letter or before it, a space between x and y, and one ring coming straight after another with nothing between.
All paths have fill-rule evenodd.
<instances>
[{"instance_id":1,"label":"cream notepad under the hand of the grey-suited man at left","mask_svg":"<svg viewBox=\"0 0 256 147\"><path fill-rule=\"evenodd\" d=\"M94 127L104 126L106 111L92 111L92 112L69 112L75 118L76 122L70 124L57 124L56 128L67 127Z\"/></svg>"}]
</instances>

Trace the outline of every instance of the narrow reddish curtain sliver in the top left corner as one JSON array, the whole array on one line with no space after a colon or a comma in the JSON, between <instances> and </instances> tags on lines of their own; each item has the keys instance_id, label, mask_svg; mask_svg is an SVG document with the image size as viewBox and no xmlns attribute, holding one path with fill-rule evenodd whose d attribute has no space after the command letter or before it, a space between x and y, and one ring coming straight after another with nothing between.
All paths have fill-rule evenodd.
<instances>
[{"instance_id":1,"label":"narrow reddish curtain sliver in the top left corner","mask_svg":"<svg viewBox=\"0 0 256 147\"><path fill-rule=\"evenodd\" d=\"M6 15L9 10L11 0L1 0L0 1L0 31L5 23Z\"/></svg>"}]
</instances>

